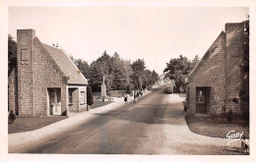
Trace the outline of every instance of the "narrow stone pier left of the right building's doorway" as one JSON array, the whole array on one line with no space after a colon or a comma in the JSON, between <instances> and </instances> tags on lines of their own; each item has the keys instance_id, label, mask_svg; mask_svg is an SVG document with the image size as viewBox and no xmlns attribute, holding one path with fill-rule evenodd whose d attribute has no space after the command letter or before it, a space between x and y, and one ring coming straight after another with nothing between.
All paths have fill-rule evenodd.
<instances>
[{"instance_id":1,"label":"narrow stone pier left of the right building's doorway","mask_svg":"<svg viewBox=\"0 0 256 165\"><path fill-rule=\"evenodd\" d=\"M189 115L196 114L196 83L189 83Z\"/></svg>"}]
</instances>

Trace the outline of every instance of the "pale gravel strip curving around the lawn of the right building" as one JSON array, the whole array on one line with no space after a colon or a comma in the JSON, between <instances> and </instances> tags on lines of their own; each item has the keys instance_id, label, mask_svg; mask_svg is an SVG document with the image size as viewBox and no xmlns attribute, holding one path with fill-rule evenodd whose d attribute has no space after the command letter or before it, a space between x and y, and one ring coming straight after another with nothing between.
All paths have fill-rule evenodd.
<instances>
[{"instance_id":1,"label":"pale gravel strip curving around the lawn of the right building","mask_svg":"<svg viewBox=\"0 0 256 165\"><path fill-rule=\"evenodd\" d=\"M184 118L181 101L184 97L172 94L169 97L170 110L168 121L164 121L163 130L167 140L166 148L173 148L176 154L244 154L240 147L240 140L230 142L228 138L211 138L192 133ZM213 134L218 134L213 130ZM227 134L227 133L225 133Z\"/></svg>"}]
</instances>

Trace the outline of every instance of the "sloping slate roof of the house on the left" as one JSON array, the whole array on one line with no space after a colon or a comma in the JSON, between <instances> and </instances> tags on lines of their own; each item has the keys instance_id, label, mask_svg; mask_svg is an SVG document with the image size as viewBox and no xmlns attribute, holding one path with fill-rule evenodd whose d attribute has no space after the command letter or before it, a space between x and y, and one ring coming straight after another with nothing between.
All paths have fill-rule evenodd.
<instances>
[{"instance_id":1,"label":"sloping slate roof of the house on the left","mask_svg":"<svg viewBox=\"0 0 256 165\"><path fill-rule=\"evenodd\" d=\"M64 73L64 75L66 77L69 77L68 83L88 84L87 79L62 49L58 49L44 43L42 43L42 46L48 51L48 53L58 65L58 67L61 69L61 71Z\"/></svg>"}]
</instances>

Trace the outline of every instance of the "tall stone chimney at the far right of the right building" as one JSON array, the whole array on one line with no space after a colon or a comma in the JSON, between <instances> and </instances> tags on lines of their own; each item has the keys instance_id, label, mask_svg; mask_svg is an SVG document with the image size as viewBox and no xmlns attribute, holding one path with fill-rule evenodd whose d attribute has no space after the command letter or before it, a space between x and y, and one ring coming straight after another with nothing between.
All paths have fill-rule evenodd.
<instances>
[{"instance_id":1,"label":"tall stone chimney at the far right of the right building","mask_svg":"<svg viewBox=\"0 0 256 165\"><path fill-rule=\"evenodd\" d=\"M244 25L226 24L226 111L232 110L234 114L241 114L239 92L241 87L242 56L244 53Z\"/></svg>"}]
</instances>

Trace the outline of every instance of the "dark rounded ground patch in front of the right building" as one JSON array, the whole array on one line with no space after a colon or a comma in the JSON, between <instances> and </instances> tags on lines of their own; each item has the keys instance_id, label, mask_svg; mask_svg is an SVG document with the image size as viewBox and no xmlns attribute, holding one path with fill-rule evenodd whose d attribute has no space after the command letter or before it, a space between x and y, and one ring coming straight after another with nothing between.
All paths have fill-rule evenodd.
<instances>
[{"instance_id":1,"label":"dark rounded ground patch in front of the right building","mask_svg":"<svg viewBox=\"0 0 256 165\"><path fill-rule=\"evenodd\" d=\"M234 131L243 132L243 136L249 138L249 122L242 119L227 122L224 117L189 116L186 117L186 121L191 132L202 136L226 138L228 132Z\"/></svg>"}]
</instances>

